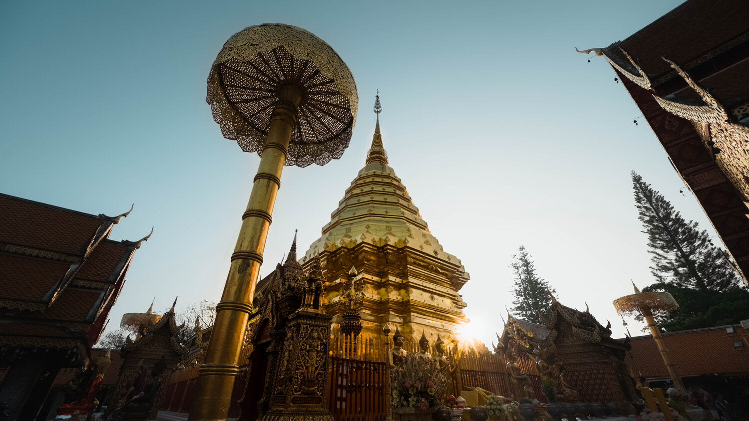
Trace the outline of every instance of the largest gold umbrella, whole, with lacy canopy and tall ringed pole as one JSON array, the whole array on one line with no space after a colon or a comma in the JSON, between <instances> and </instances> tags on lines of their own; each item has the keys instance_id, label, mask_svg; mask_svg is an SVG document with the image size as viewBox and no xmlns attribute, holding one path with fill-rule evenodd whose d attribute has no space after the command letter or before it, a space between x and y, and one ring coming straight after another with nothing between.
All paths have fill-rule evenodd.
<instances>
[{"instance_id":1,"label":"largest gold umbrella, whole, with lacy canopy and tall ringed pole","mask_svg":"<svg viewBox=\"0 0 749 421\"><path fill-rule=\"evenodd\" d=\"M261 156L189 414L226 420L283 166L340 158L359 100L351 71L327 43L282 24L234 34L207 83L206 100L224 137Z\"/></svg>"}]
</instances>

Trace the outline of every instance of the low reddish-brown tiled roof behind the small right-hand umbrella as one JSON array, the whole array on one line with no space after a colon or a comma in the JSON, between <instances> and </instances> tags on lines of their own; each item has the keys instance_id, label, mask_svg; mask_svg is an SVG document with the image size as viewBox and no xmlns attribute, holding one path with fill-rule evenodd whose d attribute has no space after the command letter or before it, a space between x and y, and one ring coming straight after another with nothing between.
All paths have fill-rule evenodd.
<instances>
[{"instance_id":1,"label":"low reddish-brown tiled roof behind the small right-hand umbrella","mask_svg":"<svg viewBox=\"0 0 749 421\"><path fill-rule=\"evenodd\" d=\"M701 374L749 374L749 344L734 348L733 342L743 340L739 333L740 325L734 327L736 333L728 334L726 327L697 329L694 331L664 333L666 347L676 371L684 377ZM646 378L667 378L658 346L651 336L631 339L632 358L626 362L634 372L642 372Z\"/></svg>"}]
</instances>

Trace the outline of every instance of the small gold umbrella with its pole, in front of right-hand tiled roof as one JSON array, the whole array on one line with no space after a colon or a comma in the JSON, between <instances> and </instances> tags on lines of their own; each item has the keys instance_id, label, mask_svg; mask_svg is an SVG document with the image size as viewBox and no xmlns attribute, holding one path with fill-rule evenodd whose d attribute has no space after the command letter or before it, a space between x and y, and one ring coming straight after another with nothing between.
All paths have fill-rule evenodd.
<instances>
[{"instance_id":1,"label":"small gold umbrella with its pole, in front of right-hand tiled roof","mask_svg":"<svg viewBox=\"0 0 749 421\"><path fill-rule=\"evenodd\" d=\"M640 289L637 288L637 285L634 285L634 282L632 286L634 286L634 294L625 295L613 301L616 313L624 314L625 316L637 314L643 316L648 324L648 328L650 328L653 339L655 339L655 343L658 345L658 351L661 351L661 357L663 357L663 361L666 363L666 368L671 375L673 384L676 387L684 387L682 378L676 372L676 365L671 362L670 353L668 348L666 348L661 331L658 329L658 325L655 324L655 318L653 317L659 313L676 310L679 308L679 304L676 303L676 300L668 292L640 292Z\"/></svg>"}]
</instances>

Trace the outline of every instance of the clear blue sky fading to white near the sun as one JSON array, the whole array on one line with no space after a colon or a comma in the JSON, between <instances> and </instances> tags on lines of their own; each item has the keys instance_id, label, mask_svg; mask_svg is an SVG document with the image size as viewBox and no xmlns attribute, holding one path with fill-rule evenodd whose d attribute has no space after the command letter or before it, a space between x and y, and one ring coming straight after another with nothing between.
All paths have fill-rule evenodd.
<instances>
[{"instance_id":1,"label":"clear blue sky fading to white near the sun","mask_svg":"<svg viewBox=\"0 0 749 421\"><path fill-rule=\"evenodd\" d=\"M489 340L525 245L560 301L623 334L611 301L652 283L637 170L709 227L622 84L574 47L622 40L680 1L3 1L0 191L93 214L135 203L112 239L154 236L112 310L218 301L258 156L222 138L205 79L231 34L283 22L351 68L360 113L325 167L286 168L267 274L320 236L380 115L390 164L445 251ZM637 328L631 329L637 334Z\"/></svg>"}]
</instances>

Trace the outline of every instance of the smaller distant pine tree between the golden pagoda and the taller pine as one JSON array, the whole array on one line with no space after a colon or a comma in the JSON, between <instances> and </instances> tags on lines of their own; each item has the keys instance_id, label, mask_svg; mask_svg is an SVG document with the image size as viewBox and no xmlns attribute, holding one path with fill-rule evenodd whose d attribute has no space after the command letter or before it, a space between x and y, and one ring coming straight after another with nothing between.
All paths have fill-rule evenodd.
<instances>
[{"instance_id":1,"label":"smaller distant pine tree between the golden pagoda and the taller pine","mask_svg":"<svg viewBox=\"0 0 749 421\"><path fill-rule=\"evenodd\" d=\"M515 287L512 295L515 301L512 311L528 322L540 323L539 314L548 316L551 309L551 296L549 291L556 292L549 284L536 274L530 254L521 245L518 254L512 256L510 263L515 275Z\"/></svg>"}]
</instances>

